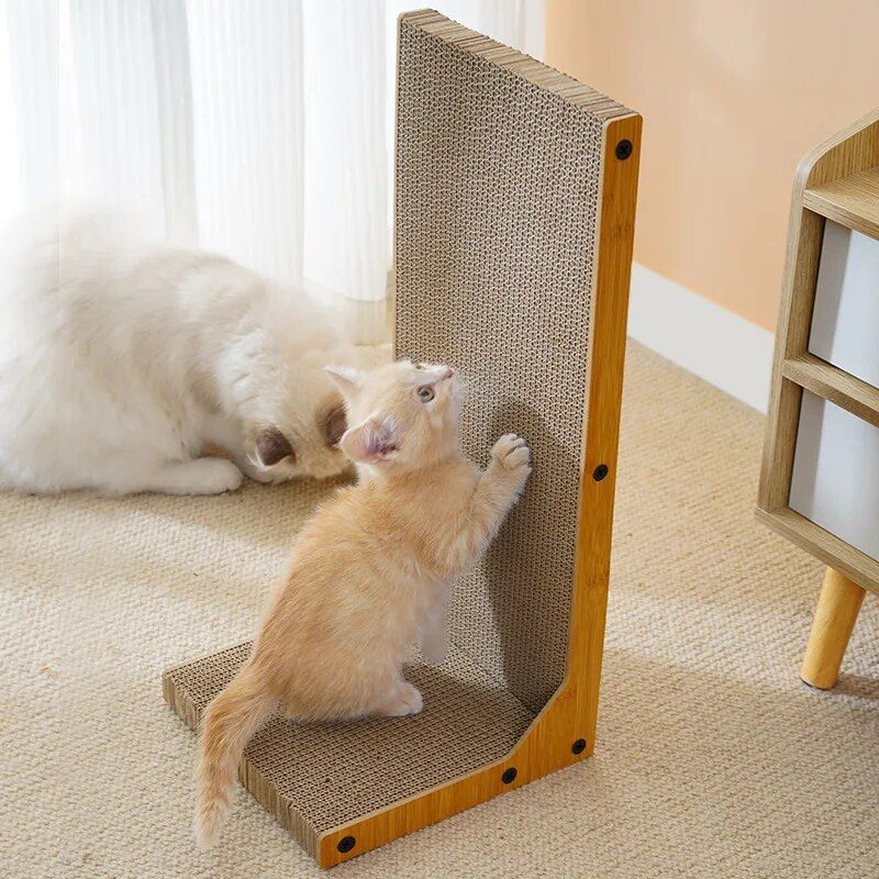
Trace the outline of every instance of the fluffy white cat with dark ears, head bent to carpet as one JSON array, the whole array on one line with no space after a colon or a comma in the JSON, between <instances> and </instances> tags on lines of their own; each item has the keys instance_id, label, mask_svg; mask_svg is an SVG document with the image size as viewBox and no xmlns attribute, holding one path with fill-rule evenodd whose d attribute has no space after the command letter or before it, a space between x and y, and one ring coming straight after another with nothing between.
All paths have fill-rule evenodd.
<instances>
[{"instance_id":1,"label":"fluffy white cat with dark ears, head bent to carpet","mask_svg":"<svg viewBox=\"0 0 879 879\"><path fill-rule=\"evenodd\" d=\"M213 494L345 469L322 367L352 357L320 309L121 225L43 218L0 263L0 488Z\"/></svg>"}]
</instances>

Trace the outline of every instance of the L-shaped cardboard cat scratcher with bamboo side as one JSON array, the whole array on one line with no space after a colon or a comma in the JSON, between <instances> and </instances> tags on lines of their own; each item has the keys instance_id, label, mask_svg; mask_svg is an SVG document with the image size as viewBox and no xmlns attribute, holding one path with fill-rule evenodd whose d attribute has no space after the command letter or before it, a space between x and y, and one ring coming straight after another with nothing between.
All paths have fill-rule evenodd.
<instances>
[{"instance_id":1,"label":"L-shaped cardboard cat scratcher with bamboo side","mask_svg":"<svg viewBox=\"0 0 879 879\"><path fill-rule=\"evenodd\" d=\"M330 867L592 753L641 118L435 12L399 25L396 352L472 378L467 455L534 472L456 585L414 717L272 720L240 777ZM268 586L268 585L267 585ZM170 669L193 730L248 645Z\"/></svg>"}]
</instances>

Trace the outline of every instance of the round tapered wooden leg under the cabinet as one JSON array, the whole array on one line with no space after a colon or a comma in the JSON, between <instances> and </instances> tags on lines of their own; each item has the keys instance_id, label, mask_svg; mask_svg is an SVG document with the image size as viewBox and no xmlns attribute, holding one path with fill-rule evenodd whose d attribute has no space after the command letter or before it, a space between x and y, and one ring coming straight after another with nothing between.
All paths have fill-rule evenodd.
<instances>
[{"instance_id":1,"label":"round tapered wooden leg under the cabinet","mask_svg":"<svg viewBox=\"0 0 879 879\"><path fill-rule=\"evenodd\" d=\"M822 690L830 690L836 683L866 591L848 577L827 568L800 670L806 683Z\"/></svg>"}]
</instances>

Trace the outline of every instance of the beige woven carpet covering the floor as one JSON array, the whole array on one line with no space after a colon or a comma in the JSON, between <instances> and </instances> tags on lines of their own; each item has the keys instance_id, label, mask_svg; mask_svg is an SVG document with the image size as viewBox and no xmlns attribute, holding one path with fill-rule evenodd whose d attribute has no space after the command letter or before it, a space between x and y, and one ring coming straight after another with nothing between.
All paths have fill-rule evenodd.
<instances>
[{"instance_id":1,"label":"beige woven carpet covering the floor","mask_svg":"<svg viewBox=\"0 0 879 879\"><path fill-rule=\"evenodd\" d=\"M632 346L596 756L334 876L879 876L879 599L837 689L800 683L821 567L754 522L761 432ZM159 676L252 634L320 496L0 494L0 875L319 874L242 794L193 849Z\"/></svg>"}]
</instances>

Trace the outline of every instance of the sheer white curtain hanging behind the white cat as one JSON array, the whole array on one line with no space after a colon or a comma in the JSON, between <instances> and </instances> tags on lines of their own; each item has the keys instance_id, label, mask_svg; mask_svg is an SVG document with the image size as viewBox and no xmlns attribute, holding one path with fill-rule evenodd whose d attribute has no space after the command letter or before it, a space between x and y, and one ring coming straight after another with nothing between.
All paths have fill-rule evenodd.
<instances>
[{"instance_id":1,"label":"sheer white curtain hanging behind the white cat","mask_svg":"<svg viewBox=\"0 0 879 879\"><path fill-rule=\"evenodd\" d=\"M0 219L134 208L385 337L396 19L424 3L0 3ZM542 55L543 0L434 7Z\"/></svg>"}]
</instances>

